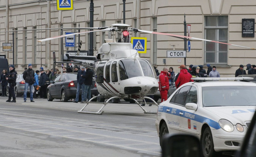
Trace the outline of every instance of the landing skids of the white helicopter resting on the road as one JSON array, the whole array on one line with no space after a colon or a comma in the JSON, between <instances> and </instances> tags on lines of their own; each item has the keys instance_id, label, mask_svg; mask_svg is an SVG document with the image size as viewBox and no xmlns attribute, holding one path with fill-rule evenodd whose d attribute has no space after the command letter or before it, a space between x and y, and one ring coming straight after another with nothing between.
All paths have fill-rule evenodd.
<instances>
[{"instance_id":1,"label":"landing skids of the white helicopter resting on the road","mask_svg":"<svg viewBox=\"0 0 256 157\"><path fill-rule=\"evenodd\" d=\"M86 101L85 103L85 106L77 111L77 113L81 113L81 114L103 114L104 111L102 111L102 109L108 104L108 102L111 100L111 99L123 99L123 98L126 98L126 97L119 97L119 96L114 96L114 97L111 97L109 98L106 102L103 102L103 106L97 111L97 112L92 112L92 111L84 111L85 107L87 105L89 105L90 102L92 102L93 99L97 99L97 97L102 97L100 95L98 96L95 96L95 97L92 97L91 99L89 99L89 101ZM140 108L142 108L142 110L144 111L144 114L157 114L157 112L153 112L153 111L147 111L146 109L144 109L141 104L136 100L136 99L133 99L133 98L129 98L129 99L132 99L137 105L140 106ZM151 101L153 101L153 104L155 104L156 106L158 106L159 104L157 104L156 101L154 101L154 99L150 98L150 97L142 97L142 99L144 100L144 104L145 106L147 106L147 102L145 101L145 99L149 99ZM95 102L93 102L95 103ZM97 103L97 102L96 102ZM102 102L99 102L102 104Z\"/></svg>"}]
</instances>

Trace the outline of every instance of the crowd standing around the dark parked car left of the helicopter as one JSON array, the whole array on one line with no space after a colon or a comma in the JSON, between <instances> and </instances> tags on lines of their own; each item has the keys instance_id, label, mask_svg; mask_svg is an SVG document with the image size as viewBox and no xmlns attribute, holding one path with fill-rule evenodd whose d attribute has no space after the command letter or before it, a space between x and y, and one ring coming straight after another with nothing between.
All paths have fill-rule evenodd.
<instances>
[{"instance_id":1,"label":"crowd standing around the dark parked car left of the helicopter","mask_svg":"<svg viewBox=\"0 0 256 157\"><path fill-rule=\"evenodd\" d=\"M75 66L74 69L72 67L62 67L62 72L78 72L77 76L81 74L82 71L85 71L85 73L82 73L80 76L82 79L82 82L77 84L77 90L78 90L78 96L79 96L79 90L82 88L82 102L89 100L91 97L90 93L90 87L92 85L92 77L93 77L93 71L82 67L82 70L78 66ZM14 87L16 86L16 78L17 78L17 72L15 71L14 65L9 65L9 73L6 69L2 70L2 75L0 77L0 82L2 85L2 97L6 97L6 91L7 91L7 84L9 83L9 97L6 100L6 102L16 102L15 97L15 91ZM24 68L23 79L25 80L25 87L24 87L24 94L23 99L24 102L27 102L27 90L28 87L30 87L30 102L35 102L34 99L37 98L37 94L39 91L40 98L47 98L47 87L50 85L50 83L57 77L57 75L60 75L61 71L58 68L55 68L54 72L53 69L51 70L44 70L43 67L40 68L40 70L34 71L32 69L32 64L28 64L28 68ZM78 77L77 77L78 78ZM77 79L78 82L78 79ZM81 87L82 85L82 87ZM12 98L12 100L11 100ZM87 98L87 99L85 99ZM75 99L73 102L77 102L78 98Z\"/></svg>"}]
</instances>

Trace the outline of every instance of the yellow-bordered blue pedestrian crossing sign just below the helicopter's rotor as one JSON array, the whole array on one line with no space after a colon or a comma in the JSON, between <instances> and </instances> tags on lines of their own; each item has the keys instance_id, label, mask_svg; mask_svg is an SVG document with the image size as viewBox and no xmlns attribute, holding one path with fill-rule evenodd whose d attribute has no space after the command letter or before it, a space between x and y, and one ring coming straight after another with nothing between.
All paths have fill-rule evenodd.
<instances>
[{"instance_id":1,"label":"yellow-bordered blue pedestrian crossing sign just below the helicopter's rotor","mask_svg":"<svg viewBox=\"0 0 256 157\"><path fill-rule=\"evenodd\" d=\"M147 53L147 38L132 37L132 48L137 50L138 53Z\"/></svg>"}]
</instances>

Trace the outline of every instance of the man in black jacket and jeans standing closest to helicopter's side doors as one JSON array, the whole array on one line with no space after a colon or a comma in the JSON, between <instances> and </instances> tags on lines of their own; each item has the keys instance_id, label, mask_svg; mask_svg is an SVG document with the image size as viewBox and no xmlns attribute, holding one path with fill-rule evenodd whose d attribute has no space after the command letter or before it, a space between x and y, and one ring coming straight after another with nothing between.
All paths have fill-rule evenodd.
<instances>
[{"instance_id":1,"label":"man in black jacket and jeans standing closest to helicopter's side doors","mask_svg":"<svg viewBox=\"0 0 256 157\"><path fill-rule=\"evenodd\" d=\"M89 68L86 68L85 75L82 75L83 78L85 78L85 101L88 101L91 99L91 86L92 86L92 77L93 77L93 71Z\"/></svg>"}]
</instances>

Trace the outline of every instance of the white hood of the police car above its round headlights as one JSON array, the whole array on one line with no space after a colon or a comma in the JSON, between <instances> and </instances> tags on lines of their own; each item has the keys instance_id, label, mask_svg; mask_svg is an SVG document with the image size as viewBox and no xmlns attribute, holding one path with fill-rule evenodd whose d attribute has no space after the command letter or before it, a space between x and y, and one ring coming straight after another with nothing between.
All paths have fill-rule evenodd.
<instances>
[{"instance_id":1,"label":"white hood of the police car above its round headlights","mask_svg":"<svg viewBox=\"0 0 256 157\"><path fill-rule=\"evenodd\" d=\"M246 121L251 121L256 106L218 106L204 107L204 109L219 116L220 119L230 121L233 125L236 125L236 123L245 125Z\"/></svg>"}]
</instances>

